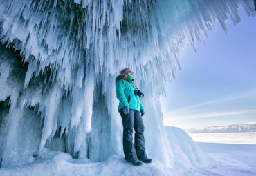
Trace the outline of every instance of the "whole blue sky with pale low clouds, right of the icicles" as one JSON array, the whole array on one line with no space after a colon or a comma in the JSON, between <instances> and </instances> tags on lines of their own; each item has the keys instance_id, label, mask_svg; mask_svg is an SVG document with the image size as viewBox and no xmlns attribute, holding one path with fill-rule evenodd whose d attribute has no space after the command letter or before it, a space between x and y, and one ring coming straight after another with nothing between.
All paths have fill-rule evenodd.
<instances>
[{"instance_id":1,"label":"whole blue sky with pale low clouds, right of the icicles","mask_svg":"<svg viewBox=\"0 0 256 176\"><path fill-rule=\"evenodd\" d=\"M256 122L256 17L239 11L241 22L228 19L228 33L216 23L206 45L188 44L182 70L161 96L165 126L205 128Z\"/></svg>"}]
</instances>

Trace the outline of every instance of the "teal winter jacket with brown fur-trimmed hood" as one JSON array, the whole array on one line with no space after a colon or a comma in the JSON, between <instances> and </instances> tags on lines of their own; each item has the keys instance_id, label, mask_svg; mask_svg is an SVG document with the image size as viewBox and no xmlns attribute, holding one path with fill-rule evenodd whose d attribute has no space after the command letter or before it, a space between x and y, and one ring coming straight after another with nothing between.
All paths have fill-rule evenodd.
<instances>
[{"instance_id":1,"label":"teal winter jacket with brown fur-trimmed hood","mask_svg":"<svg viewBox=\"0 0 256 176\"><path fill-rule=\"evenodd\" d=\"M118 111L124 106L129 106L132 110L143 110L143 104L141 104L138 95L134 95L134 90L136 90L136 86L127 75L120 74L116 77L116 97L119 99Z\"/></svg>"}]
</instances>

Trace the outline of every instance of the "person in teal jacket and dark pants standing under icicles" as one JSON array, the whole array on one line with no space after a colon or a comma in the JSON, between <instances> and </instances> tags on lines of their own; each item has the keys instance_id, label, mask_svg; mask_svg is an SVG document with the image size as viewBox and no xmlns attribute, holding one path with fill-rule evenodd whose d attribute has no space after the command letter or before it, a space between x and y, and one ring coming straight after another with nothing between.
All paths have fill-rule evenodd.
<instances>
[{"instance_id":1,"label":"person in teal jacket and dark pants standing under icicles","mask_svg":"<svg viewBox=\"0 0 256 176\"><path fill-rule=\"evenodd\" d=\"M143 96L143 93L134 85L131 69L121 70L120 75L116 77L116 97L120 101L118 112L122 117L122 144L125 160L134 166L141 166L142 162L152 162L145 153L144 125L141 118L145 112L139 99ZM133 130L135 130L134 143Z\"/></svg>"}]
</instances>

